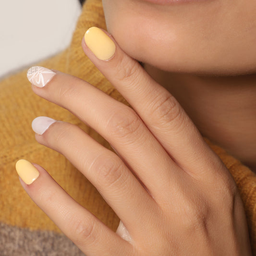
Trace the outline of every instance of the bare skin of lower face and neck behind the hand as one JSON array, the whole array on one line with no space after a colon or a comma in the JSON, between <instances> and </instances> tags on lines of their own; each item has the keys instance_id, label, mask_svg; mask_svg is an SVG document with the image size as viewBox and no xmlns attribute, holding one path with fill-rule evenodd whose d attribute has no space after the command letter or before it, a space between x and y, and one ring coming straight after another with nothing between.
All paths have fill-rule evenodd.
<instances>
[{"instance_id":1,"label":"bare skin of lower face and neck behind the hand","mask_svg":"<svg viewBox=\"0 0 256 256\"><path fill-rule=\"evenodd\" d=\"M103 5L121 48L145 63L201 134L256 171L256 2Z\"/></svg>"}]
</instances>

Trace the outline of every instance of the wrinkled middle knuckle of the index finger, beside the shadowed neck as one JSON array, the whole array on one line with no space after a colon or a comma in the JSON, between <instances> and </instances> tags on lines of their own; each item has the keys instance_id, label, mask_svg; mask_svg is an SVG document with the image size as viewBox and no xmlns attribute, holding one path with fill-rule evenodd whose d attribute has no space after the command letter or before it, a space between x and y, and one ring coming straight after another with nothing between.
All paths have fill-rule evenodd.
<instances>
[{"instance_id":1,"label":"wrinkled middle knuckle of the index finger, beside the shadowed neck","mask_svg":"<svg viewBox=\"0 0 256 256\"><path fill-rule=\"evenodd\" d=\"M163 123L170 123L182 118L182 108L170 94L163 97L159 94L151 103L151 115L157 116Z\"/></svg>"}]
</instances>

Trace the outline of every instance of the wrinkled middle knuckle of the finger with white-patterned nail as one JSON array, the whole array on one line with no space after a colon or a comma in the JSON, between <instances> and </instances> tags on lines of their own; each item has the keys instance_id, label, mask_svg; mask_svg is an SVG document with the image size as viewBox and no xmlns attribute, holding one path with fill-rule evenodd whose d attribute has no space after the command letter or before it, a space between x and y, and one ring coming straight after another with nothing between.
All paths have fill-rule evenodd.
<instances>
[{"instance_id":1,"label":"wrinkled middle knuckle of the finger with white-patterned nail","mask_svg":"<svg viewBox=\"0 0 256 256\"><path fill-rule=\"evenodd\" d=\"M137 134L142 122L139 116L132 109L119 111L110 117L107 129L110 135L124 138L131 134Z\"/></svg>"}]
</instances>

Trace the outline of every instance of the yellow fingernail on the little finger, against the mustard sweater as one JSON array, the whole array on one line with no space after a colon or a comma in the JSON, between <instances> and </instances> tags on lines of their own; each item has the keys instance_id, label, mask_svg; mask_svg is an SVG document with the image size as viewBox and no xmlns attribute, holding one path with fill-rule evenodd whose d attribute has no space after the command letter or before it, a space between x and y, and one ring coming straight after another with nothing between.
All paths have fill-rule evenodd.
<instances>
[{"instance_id":1,"label":"yellow fingernail on the little finger, against the mustard sweater","mask_svg":"<svg viewBox=\"0 0 256 256\"><path fill-rule=\"evenodd\" d=\"M39 176L37 168L27 160L18 160L15 167L18 175L27 185L33 183Z\"/></svg>"}]
</instances>

